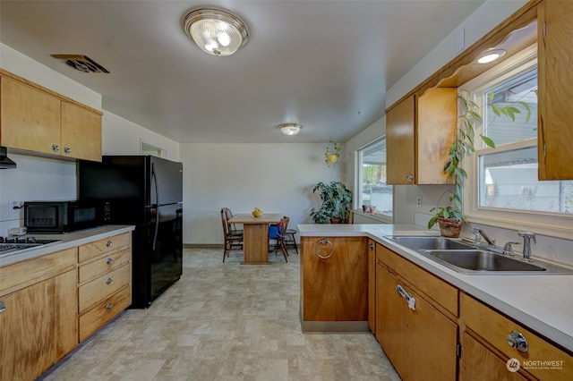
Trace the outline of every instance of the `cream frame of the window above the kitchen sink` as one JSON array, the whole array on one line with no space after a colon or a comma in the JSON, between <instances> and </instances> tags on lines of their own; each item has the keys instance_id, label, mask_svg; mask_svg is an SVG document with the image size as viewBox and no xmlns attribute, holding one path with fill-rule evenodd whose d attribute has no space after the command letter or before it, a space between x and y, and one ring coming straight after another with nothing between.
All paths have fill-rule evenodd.
<instances>
[{"instance_id":1,"label":"cream frame of the window above the kitchen sink","mask_svg":"<svg viewBox=\"0 0 573 381\"><path fill-rule=\"evenodd\" d=\"M492 82L507 80L518 72L526 72L537 64L537 47L529 47L515 57L494 66L487 72L461 85L458 90L470 91L474 101L479 101L475 94L483 93L492 87ZM483 113L482 113L483 115ZM483 118L485 121L485 118ZM483 126L479 129L483 131ZM477 131L476 131L477 134ZM479 139L478 139L479 140ZM478 141L481 143L481 140ZM519 140L496 148L475 147L475 153L466 160L462 167L466 170L467 179L463 187L462 210L469 222L488 224L501 228L531 230L535 233L570 239L573 234L573 215L542 211L500 209L479 206L479 158L492 152L509 151L518 148L537 147L537 138Z\"/></svg>"}]
</instances>

